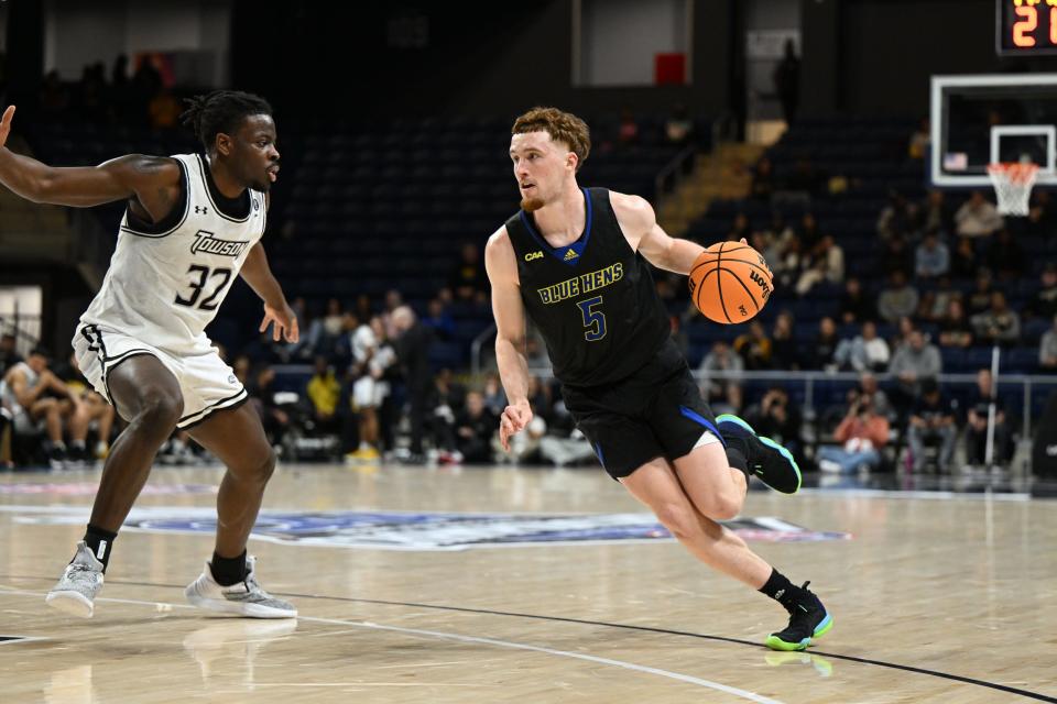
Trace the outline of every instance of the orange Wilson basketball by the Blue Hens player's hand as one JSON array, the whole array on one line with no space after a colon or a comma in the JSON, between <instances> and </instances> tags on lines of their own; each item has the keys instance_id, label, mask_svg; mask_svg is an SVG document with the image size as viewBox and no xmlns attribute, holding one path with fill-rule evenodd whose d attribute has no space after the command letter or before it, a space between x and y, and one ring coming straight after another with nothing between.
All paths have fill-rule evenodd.
<instances>
[{"instance_id":1,"label":"orange Wilson basketball by the Blue Hens player's hand","mask_svg":"<svg viewBox=\"0 0 1057 704\"><path fill-rule=\"evenodd\" d=\"M763 255L741 242L717 242L697 257L689 275L690 297L715 322L745 322L763 310L774 276Z\"/></svg>"}]
</instances>

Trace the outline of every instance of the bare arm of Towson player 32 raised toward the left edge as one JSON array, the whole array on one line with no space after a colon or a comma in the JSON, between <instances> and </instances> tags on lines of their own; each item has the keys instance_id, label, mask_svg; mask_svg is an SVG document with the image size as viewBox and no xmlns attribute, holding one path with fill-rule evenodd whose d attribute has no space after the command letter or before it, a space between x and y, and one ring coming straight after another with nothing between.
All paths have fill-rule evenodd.
<instances>
[{"instance_id":1,"label":"bare arm of Towson player 32 raised toward the left edge","mask_svg":"<svg viewBox=\"0 0 1057 704\"><path fill-rule=\"evenodd\" d=\"M135 196L154 221L179 195L181 172L171 158L130 154L99 166L54 167L3 146L14 106L0 119L0 184L33 202L90 207Z\"/></svg>"}]
</instances>

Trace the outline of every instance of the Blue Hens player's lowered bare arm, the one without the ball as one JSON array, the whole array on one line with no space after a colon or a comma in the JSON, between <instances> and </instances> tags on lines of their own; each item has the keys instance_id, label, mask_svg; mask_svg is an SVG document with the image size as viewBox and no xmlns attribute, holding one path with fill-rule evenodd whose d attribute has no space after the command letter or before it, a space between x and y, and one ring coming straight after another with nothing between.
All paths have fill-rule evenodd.
<instances>
[{"instance_id":1,"label":"Blue Hens player's lowered bare arm, the one without the ball","mask_svg":"<svg viewBox=\"0 0 1057 704\"><path fill-rule=\"evenodd\" d=\"M484 268L492 285L495 363L510 404L500 420L499 440L509 451L511 436L532 420L532 406L528 404L528 361L525 359L525 305L521 300L517 262L506 228L501 228L488 240Z\"/></svg>"}]
</instances>

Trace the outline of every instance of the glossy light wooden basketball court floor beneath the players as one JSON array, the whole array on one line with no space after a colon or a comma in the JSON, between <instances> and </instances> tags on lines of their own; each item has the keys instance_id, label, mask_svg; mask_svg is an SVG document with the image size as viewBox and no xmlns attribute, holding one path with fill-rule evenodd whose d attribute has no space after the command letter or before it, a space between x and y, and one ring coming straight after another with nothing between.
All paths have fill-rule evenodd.
<instances>
[{"instance_id":1,"label":"glossy light wooden basketball court floor beneath the players","mask_svg":"<svg viewBox=\"0 0 1057 704\"><path fill-rule=\"evenodd\" d=\"M210 616L185 605L183 587L211 553L219 476L155 470L95 618L73 620L44 593L84 532L98 473L0 475L0 701L1057 701L1051 502L754 491L745 516L781 519L760 521L756 538L789 525L832 538L750 536L791 579L811 580L836 619L808 652L780 653L760 645L785 624L775 603L674 541L607 532L628 517L606 516L642 508L590 469L282 468L261 521L270 537L251 551L301 618ZM374 514L336 528L346 512ZM450 515L464 512L489 516ZM500 547L540 526L495 514L600 528ZM429 520L443 536L434 549ZM325 544L335 535L388 543ZM489 547L451 549L473 536Z\"/></svg>"}]
</instances>

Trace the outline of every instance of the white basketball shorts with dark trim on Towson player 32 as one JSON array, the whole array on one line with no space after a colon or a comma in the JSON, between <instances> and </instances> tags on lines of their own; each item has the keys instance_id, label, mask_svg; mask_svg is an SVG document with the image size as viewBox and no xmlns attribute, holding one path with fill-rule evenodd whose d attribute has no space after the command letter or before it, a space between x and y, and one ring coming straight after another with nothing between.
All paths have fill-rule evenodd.
<instances>
[{"instance_id":1,"label":"white basketball shorts with dark trim on Towson player 32","mask_svg":"<svg viewBox=\"0 0 1057 704\"><path fill-rule=\"evenodd\" d=\"M122 413L123 409L110 396L107 376L115 366L140 354L156 358L176 377L184 396L184 413L176 424L177 428L196 426L218 410L241 405L248 397L235 371L211 345L203 344L177 356L97 324L79 326L73 343L80 373L126 420L129 418Z\"/></svg>"}]
</instances>

